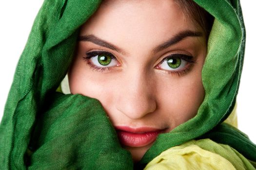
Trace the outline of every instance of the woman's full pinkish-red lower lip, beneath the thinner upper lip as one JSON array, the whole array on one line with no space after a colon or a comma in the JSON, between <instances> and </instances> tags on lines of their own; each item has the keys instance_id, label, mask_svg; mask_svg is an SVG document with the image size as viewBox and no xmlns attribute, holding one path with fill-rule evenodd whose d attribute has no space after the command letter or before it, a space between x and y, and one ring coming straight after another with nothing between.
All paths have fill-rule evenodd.
<instances>
[{"instance_id":1,"label":"woman's full pinkish-red lower lip, beneath the thinner upper lip","mask_svg":"<svg viewBox=\"0 0 256 170\"><path fill-rule=\"evenodd\" d=\"M118 130L118 138L122 145L128 147L143 147L154 142L160 131L145 132L145 133L132 133L127 131Z\"/></svg>"}]
</instances>

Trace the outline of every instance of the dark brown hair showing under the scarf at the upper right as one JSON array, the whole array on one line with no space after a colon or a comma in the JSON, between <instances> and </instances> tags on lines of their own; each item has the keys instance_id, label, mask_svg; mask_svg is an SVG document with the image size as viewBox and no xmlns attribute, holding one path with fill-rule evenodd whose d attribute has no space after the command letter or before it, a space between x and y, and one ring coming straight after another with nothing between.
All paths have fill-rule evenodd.
<instances>
[{"instance_id":1,"label":"dark brown hair showing under the scarf at the upper right","mask_svg":"<svg viewBox=\"0 0 256 170\"><path fill-rule=\"evenodd\" d=\"M212 29L214 17L205 9L197 5L193 0L175 0L175 2L180 6L186 17L193 19L203 29L208 38Z\"/></svg>"}]
</instances>

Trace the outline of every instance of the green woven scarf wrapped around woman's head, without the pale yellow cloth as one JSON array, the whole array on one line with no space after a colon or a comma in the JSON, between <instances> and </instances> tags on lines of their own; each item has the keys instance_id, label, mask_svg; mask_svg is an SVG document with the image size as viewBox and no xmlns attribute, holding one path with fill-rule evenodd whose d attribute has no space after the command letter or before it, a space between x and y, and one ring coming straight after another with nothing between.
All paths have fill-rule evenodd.
<instances>
[{"instance_id":1,"label":"green woven scarf wrapped around woman's head, without the pale yellow cloth","mask_svg":"<svg viewBox=\"0 0 256 170\"><path fill-rule=\"evenodd\" d=\"M246 136L227 137L229 127L221 128L222 135L217 128L212 130L231 113L239 85L245 43L239 2L195 1L216 18L202 71L205 100L195 118L158 137L142 158L142 166L162 151L207 132L205 137L239 152L249 143L240 153L256 161L256 146ZM97 100L55 92L72 60L79 27L99 4L100 0L44 1L0 124L0 169L133 169L130 153L120 147Z\"/></svg>"}]
</instances>

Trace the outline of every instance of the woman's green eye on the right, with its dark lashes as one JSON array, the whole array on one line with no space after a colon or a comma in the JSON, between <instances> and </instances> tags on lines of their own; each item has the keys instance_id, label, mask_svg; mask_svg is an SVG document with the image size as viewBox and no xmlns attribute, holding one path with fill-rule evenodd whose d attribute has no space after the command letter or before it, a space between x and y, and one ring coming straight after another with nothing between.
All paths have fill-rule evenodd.
<instances>
[{"instance_id":1,"label":"woman's green eye on the right, with its dark lashes","mask_svg":"<svg viewBox=\"0 0 256 170\"><path fill-rule=\"evenodd\" d=\"M157 68L176 72L185 69L190 63L194 63L192 56L184 54L172 54L165 57L161 63L158 64Z\"/></svg>"}]
</instances>

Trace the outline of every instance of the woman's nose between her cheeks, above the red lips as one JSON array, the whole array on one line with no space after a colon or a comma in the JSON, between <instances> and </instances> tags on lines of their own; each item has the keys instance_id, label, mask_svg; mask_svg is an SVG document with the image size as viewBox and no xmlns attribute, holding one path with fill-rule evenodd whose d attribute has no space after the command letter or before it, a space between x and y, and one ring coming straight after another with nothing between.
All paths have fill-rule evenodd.
<instances>
[{"instance_id":1,"label":"woman's nose between her cheeks, above the red lips","mask_svg":"<svg viewBox=\"0 0 256 170\"><path fill-rule=\"evenodd\" d=\"M141 119L157 108L155 88L150 78L134 72L121 78L116 108L130 119Z\"/></svg>"}]
</instances>

